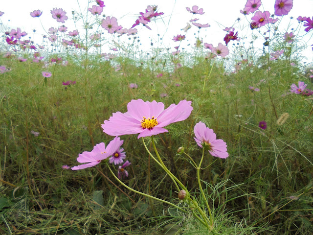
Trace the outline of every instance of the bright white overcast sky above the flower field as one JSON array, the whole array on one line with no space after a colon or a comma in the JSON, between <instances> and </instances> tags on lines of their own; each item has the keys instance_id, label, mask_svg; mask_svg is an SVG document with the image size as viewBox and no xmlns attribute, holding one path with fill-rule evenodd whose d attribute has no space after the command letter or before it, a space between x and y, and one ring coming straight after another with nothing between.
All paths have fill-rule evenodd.
<instances>
[{"instance_id":1,"label":"bright white overcast sky above the flower field","mask_svg":"<svg viewBox=\"0 0 313 235\"><path fill-rule=\"evenodd\" d=\"M65 26L68 27L69 31L72 31L75 27L71 20L71 11L79 11L80 7L82 12L86 12L88 6L88 0L0 1L0 11L4 12L4 15L0 18L3 25L10 28L22 28L23 31L28 33L28 36L31 36L35 39L35 42L39 44L41 43L42 35L45 34L45 31L43 30L39 19L32 18L29 15L30 12L37 9L42 10L43 15L40 17L40 20L43 23L45 30L48 30L49 27L58 27L59 25L62 25L62 23L57 23L56 20L51 17L50 10L52 10L53 7L63 8L68 16ZM262 0L263 6L261 6L260 10L268 10L273 14L274 2L275 0ZM89 7L95 4L96 3L92 0L89 3ZM200 19L197 23L208 23L211 25L209 28L201 29L200 37L203 38L204 43L212 43L214 46L217 46L219 42L223 42L225 36L225 32L223 31L224 27L232 26L238 17L241 18L241 22L236 24L235 28L239 31L239 37L245 37L251 33L251 30L248 27L244 27L244 25L248 25L245 16L239 12L239 10L244 8L246 0L104 0L104 4L106 6L104 7L102 14L116 17L118 23L125 28L130 28L134 24L138 17L138 13L140 11L144 12L147 5L158 5L158 12L164 12L162 19L149 23L149 26L152 28L151 31L141 25L136 27L139 32L138 36L143 43L143 50L144 47L148 47L147 45L150 47L151 39L149 37L153 40L157 40L157 34L159 33L163 38L164 47L171 47L174 51L175 49L173 47L178 46L178 43L172 41L173 36L176 36L177 34L185 34L180 29L185 27L186 23L195 17ZM189 6L191 8L193 5L198 5L203 8L205 14L192 15L187 12L186 7ZM280 31L286 31L288 25L291 23L288 29L288 32L290 32L292 27L297 27L298 22L296 21L296 18L299 15L312 18L312 12L313 0L293 0L293 8L291 9L291 12L289 15L283 17L283 21L279 25ZM294 18L292 21L290 20L291 16ZM247 18L250 20L251 14L248 15ZM83 32L82 29L80 30L80 26L81 25L77 25L78 30ZM32 32L33 29L36 29L36 33ZM108 36L108 33L105 30L103 31L105 32L105 36ZM181 47L187 47L187 44L189 43L193 45L196 41L195 37L198 36L197 31L198 28L191 28L187 32L186 40ZM264 28L264 30L261 31L265 32L266 29ZM299 34L305 34L303 26L301 27ZM311 30L311 32L304 38L304 42L307 42L309 46L313 44L312 34ZM123 37L128 38L127 36ZM250 40L247 40L246 42L249 41ZM156 41L154 41L154 43L155 46L157 46ZM163 45L159 44L158 46L162 47ZM311 63L313 61L312 47L308 47L304 52L304 55L308 57L307 63Z\"/></svg>"}]
</instances>

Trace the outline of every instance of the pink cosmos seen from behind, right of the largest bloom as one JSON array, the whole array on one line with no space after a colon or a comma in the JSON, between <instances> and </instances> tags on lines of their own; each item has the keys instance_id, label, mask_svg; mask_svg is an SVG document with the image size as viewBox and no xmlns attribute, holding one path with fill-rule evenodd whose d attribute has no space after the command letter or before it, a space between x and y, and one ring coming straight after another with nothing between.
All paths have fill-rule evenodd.
<instances>
[{"instance_id":1,"label":"pink cosmos seen from behind, right of the largest bloom","mask_svg":"<svg viewBox=\"0 0 313 235\"><path fill-rule=\"evenodd\" d=\"M208 147L209 153L214 157L227 158L227 145L223 140L216 140L214 131L205 126L203 122L198 122L194 128L195 141L203 148Z\"/></svg>"}]
</instances>

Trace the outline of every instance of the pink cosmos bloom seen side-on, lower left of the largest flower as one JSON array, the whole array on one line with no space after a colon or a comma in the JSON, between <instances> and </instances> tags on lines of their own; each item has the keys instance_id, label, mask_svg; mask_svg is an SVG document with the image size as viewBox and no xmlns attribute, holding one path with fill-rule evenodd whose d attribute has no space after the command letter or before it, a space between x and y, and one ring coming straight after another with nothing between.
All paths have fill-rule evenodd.
<instances>
[{"instance_id":1,"label":"pink cosmos bloom seen side-on, lower left of the largest flower","mask_svg":"<svg viewBox=\"0 0 313 235\"><path fill-rule=\"evenodd\" d=\"M124 141L121 141L119 137L115 137L106 147L106 145L102 143L96 144L93 147L91 152L83 152L82 154L78 155L77 161L79 163L88 163L82 164L78 166L72 167L72 170L80 170L85 169L87 167L95 166L99 164L101 160L107 159L108 157L112 156L120 146L122 146Z\"/></svg>"}]
</instances>

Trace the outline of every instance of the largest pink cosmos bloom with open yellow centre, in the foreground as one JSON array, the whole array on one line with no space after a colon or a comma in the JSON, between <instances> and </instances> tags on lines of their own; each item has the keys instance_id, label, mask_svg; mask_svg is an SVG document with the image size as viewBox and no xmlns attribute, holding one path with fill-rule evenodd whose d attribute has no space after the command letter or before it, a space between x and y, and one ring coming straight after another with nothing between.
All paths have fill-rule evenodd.
<instances>
[{"instance_id":1,"label":"largest pink cosmos bloom with open yellow centre, in the foreground","mask_svg":"<svg viewBox=\"0 0 313 235\"><path fill-rule=\"evenodd\" d=\"M162 102L132 100L127 104L127 112L114 113L102 124L103 132L110 136L139 134L140 137L168 132L163 127L189 117L193 108L191 101L181 100L178 105L171 104L164 110Z\"/></svg>"}]
</instances>

